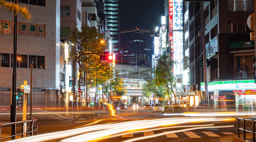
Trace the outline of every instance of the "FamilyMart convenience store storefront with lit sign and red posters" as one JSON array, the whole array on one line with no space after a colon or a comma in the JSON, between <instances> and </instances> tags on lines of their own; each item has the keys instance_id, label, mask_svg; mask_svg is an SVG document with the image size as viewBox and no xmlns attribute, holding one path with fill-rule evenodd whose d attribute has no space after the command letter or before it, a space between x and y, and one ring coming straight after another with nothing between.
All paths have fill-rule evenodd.
<instances>
[{"instance_id":1,"label":"FamilyMart convenience store storefront with lit sign and red posters","mask_svg":"<svg viewBox=\"0 0 256 142\"><path fill-rule=\"evenodd\" d=\"M256 111L256 84L254 80L230 80L208 83L209 101L214 109ZM204 82L201 82L201 91Z\"/></svg>"}]
</instances>

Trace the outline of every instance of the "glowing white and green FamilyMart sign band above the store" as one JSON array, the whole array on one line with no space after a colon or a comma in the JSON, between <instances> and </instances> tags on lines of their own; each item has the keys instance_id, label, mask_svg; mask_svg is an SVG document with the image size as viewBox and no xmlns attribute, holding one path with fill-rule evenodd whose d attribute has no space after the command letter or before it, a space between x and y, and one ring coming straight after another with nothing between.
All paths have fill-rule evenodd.
<instances>
[{"instance_id":1,"label":"glowing white and green FamilyMart sign band above the store","mask_svg":"<svg viewBox=\"0 0 256 142\"><path fill-rule=\"evenodd\" d=\"M205 91L205 83L201 82L201 91ZM215 81L208 83L208 90L242 90L242 89L256 89L254 80L230 80L230 81Z\"/></svg>"}]
</instances>

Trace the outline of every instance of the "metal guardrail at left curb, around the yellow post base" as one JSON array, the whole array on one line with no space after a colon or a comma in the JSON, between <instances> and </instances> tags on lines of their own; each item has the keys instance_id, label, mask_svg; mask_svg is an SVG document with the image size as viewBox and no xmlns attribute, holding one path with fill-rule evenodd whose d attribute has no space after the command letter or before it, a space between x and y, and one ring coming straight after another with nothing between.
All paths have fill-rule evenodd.
<instances>
[{"instance_id":1,"label":"metal guardrail at left curb, around the yellow post base","mask_svg":"<svg viewBox=\"0 0 256 142\"><path fill-rule=\"evenodd\" d=\"M33 136L34 134L37 135L37 120L26 120L26 121L17 121L17 122L10 122L10 123L4 123L4 124L0 124L0 142L2 139L6 139L6 138L10 138L10 137L15 137L18 135L21 135L21 137L23 138L27 133L31 133L31 136ZM34 123L36 123L36 125L34 126ZM21 128L21 133L15 134L15 135L10 135L7 137L3 137L2 138L2 127L5 125L13 125L15 124L16 130L17 128ZM21 124L21 127L17 127L16 124ZM30 126L28 125L30 124ZM25 127L24 127L25 125ZM31 130L29 129L29 131L27 131L27 127L31 127Z\"/></svg>"}]
</instances>

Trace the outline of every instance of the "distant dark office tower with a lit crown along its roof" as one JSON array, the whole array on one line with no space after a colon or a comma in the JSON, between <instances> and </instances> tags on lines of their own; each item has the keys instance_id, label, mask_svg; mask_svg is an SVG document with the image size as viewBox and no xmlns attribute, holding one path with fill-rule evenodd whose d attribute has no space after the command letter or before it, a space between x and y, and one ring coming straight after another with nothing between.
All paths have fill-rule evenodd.
<instances>
[{"instance_id":1,"label":"distant dark office tower with a lit crown along its roof","mask_svg":"<svg viewBox=\"0 0 256 142\"><path fill-rule=\"evenodd\" d=\"M134 28L120 32L121 64L151 67L150 30Z\"/></svg>"}]
</instances>

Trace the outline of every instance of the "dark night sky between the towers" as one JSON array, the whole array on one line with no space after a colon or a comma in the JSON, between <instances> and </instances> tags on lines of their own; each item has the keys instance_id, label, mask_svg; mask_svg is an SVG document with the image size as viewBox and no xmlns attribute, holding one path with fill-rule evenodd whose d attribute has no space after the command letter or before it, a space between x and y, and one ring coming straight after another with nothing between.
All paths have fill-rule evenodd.
<instances>
[{"instance_id":1,"label":"dark night sky between the towers","mask_svg":"<svg viewBox=\"0 0 256 142\"><path fill-rule=\"evenodd\" d=\"M121 30L139 27L154 34L164 16L164 0L119 0L119 10Z\"/></svg>"}]
</instances>

